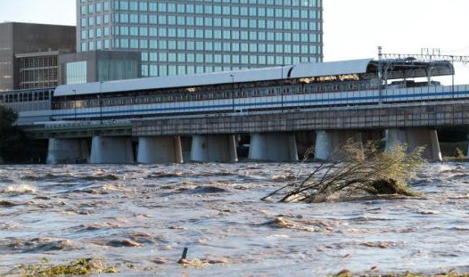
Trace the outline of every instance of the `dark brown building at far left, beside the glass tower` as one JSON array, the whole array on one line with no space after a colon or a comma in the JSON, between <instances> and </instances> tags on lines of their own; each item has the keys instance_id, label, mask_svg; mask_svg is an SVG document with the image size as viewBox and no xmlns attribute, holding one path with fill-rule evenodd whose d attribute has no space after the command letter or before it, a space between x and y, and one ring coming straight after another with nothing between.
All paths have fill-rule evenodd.
<instances>
[{"instance_id":1,"label":"dark brown building at far left, beside the glass tower","mask_svg":"<svg viewBox=\"0 0 469 277\"><path fill-rule=\"evenodd\" d=\"M59 52L75 51L74 26L0 23L0 92L57 84Z\"/></svg>"}]
</instances>

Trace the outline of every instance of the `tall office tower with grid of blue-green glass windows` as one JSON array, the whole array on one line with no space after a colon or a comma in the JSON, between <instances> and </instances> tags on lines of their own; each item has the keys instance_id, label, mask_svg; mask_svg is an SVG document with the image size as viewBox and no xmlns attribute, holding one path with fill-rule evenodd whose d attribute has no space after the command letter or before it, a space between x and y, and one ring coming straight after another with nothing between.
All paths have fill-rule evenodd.
<instances>
[{"instance_id":1,"label":"tall office tower with grid of blue-green glass windows","mask_svg":"<svg viewBox=\"0 0 469 277\"><path fill-rule=\"evenodd\" d=\"M322 6L322 0L77 0L77 49L139 51L144 77L322 61Z\"/></svg>"}]
</instances>

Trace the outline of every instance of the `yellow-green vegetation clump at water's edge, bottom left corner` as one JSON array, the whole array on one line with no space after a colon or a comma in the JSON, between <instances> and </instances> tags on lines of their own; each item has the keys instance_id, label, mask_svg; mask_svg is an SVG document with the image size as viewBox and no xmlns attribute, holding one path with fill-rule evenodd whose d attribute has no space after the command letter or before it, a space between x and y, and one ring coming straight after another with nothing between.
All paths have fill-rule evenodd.
<instances>
[{"instance_id":1,"label":"yellow-green vegetation clump at water's edge, bottom left corner","mask_svg":"<svg viewBox=\"0 0 469 277\"><path fill-rule=\"evenodd\" d=\"M63 265L49 265L49 260L43 258L39 265L20 265L18 270L22 277L76 276L119 272L116 267L106 265L102 259L96 258L79 258Z\"/></svg>"}]
</instances>

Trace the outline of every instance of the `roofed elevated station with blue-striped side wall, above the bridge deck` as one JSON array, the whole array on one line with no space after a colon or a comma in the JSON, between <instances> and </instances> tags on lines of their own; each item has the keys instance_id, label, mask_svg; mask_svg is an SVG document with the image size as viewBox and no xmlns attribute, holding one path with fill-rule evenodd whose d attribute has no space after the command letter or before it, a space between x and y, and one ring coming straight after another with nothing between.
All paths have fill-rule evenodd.
<instances>
[{"instance_id":1,"label":"roofed elevated station with blue-striped side wall, above the bridge deck","mask_svg":"<svg viewBox=\"0 0 469 277\"><path fill-rule=\"evenodd\" d=\"M47 96L33 94L33 98L21 99L49 102L48 120L62 122L289 112L469 98L467 86L441 86L430 78L421 82L411 79L428 77L424 66L412 68L409 72L413 75L390 72L387 77L399 81L389 85L383 85L376 61L366 59L65 85L53 93L48 90ZM440 68L433 64L432 69L433 76L454 72L448 64ZM406 76L404 80L402 75ZM1 97L0 103L12 99Z\"/></svg>"}]
</instances>

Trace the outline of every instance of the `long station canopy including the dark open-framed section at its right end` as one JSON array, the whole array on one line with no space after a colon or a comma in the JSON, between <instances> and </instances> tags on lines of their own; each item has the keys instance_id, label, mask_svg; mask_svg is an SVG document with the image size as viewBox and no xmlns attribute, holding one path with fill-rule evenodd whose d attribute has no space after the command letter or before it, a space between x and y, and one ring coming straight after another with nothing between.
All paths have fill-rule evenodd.
<instances>
[{"instance_id":1,"label":"long station canopy including the dark open-framed section at its right end","mask_svg":"<svg viewBox=\"0 0 469 277\"><path fill-rule=\"evenodd\" d=\"M300 80L304 83L341 82L350 80L376 80L380 63L383 68L383 82L388 80L448 76L454 73L449 61L422 62L414 60L375 61L362 59L352 61L331 61L300 63L265 69L244 69L227 72L194 74L184 77L147 77L83 85L59 86L55 96L71 94L106 94L135 92L148 89L163 89L193 86L217 86L250 82ZM384 72L385 71L385 72ZM386 84L386 83L384 83Z\"/></svg>"}]
</instances>

